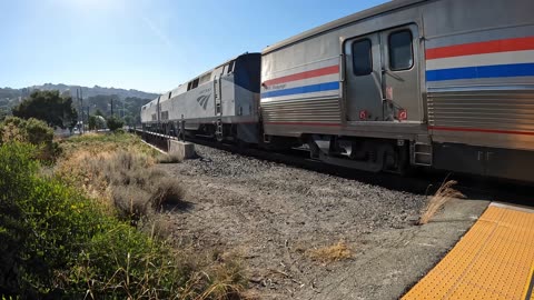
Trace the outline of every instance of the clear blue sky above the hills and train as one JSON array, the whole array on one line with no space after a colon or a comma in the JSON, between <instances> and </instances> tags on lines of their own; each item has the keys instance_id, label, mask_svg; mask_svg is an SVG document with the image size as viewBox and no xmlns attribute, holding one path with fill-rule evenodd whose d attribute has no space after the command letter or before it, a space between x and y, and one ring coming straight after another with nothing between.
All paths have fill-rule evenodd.
<instances>
[{"instance_id":1,"label":"clear blue sky above the hills and train","mask_svg":"<svg viewBox=\"0 0 534 300\"><path fill-rule=\"evenodd\" d=\"M0 87L165 92L386 0L0 0Z\"/></svg>"}]
</instances>

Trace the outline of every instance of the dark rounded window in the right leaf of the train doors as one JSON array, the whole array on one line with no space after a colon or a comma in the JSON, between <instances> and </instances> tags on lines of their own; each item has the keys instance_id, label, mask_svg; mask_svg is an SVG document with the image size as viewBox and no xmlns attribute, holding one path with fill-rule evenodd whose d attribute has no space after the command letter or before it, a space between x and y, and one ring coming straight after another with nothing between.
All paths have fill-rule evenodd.
<instances>
[{"instance_id":1,"label":"dark rounded window in the right leaf of the train doors","mask_svg":"<svg viewBox=\"0 0 534 300\"><path fill-rule=\"evenodd\" d=\"M400 71L414 66L412 31L402 30L389 34L389 69Z\"/></svg>"}]
</instances>

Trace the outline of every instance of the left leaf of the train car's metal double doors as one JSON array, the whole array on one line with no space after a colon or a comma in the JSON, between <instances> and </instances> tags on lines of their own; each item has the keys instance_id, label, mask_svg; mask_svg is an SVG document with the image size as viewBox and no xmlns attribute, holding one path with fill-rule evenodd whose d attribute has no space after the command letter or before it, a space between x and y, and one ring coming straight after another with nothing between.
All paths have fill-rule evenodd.
<instances>
[{"instance_id":1,"label":"left leaf of the train car's metal double doors","mask_svg":"<svg viewBox=\"0 0 534 300\"><path fill-rule=\"evenodd\" d=\"M347 121L382 121L379 34L345 41Z\"/></svg>"}]
</instances>

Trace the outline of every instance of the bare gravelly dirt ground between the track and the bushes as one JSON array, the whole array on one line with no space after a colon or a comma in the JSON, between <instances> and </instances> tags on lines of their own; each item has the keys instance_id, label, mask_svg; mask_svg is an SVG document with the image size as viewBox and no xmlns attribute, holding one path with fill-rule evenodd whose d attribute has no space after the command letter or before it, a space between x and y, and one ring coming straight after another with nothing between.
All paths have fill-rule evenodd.
<instances>
[{"instance_id":1,"label":"bare gravelly dirt ground between the track and the bushes","mask_svg":"<svg viewBox=\"0 0 534 300\"><path fill-rule=\"evenodd\" d=\"M196 150L199 159L159 166L182 180L190 204L166 214L171 237L240 257L260 299L398 299L488 204L454 200L419 227L424 196ZM340 241L350 258L328 263L310 258L310 250Z\"/></svg>"}]
</instances>

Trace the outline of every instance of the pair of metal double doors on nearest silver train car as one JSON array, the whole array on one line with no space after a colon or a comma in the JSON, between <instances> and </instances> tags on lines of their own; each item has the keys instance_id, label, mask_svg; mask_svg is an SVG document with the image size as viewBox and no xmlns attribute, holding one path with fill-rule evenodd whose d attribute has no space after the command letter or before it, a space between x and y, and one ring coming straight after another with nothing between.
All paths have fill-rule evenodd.
<instances>
[{"instance_id":1,"label":"pair of metal double doors on nearest silver train car","mask_svg":"<svg viewBox=\"0 0 534 300\"><path fill-rule=\"evenodd\" d=\"M423 121L415 24L348 39L347 121Z\"/></svg>"}]
</instances>

